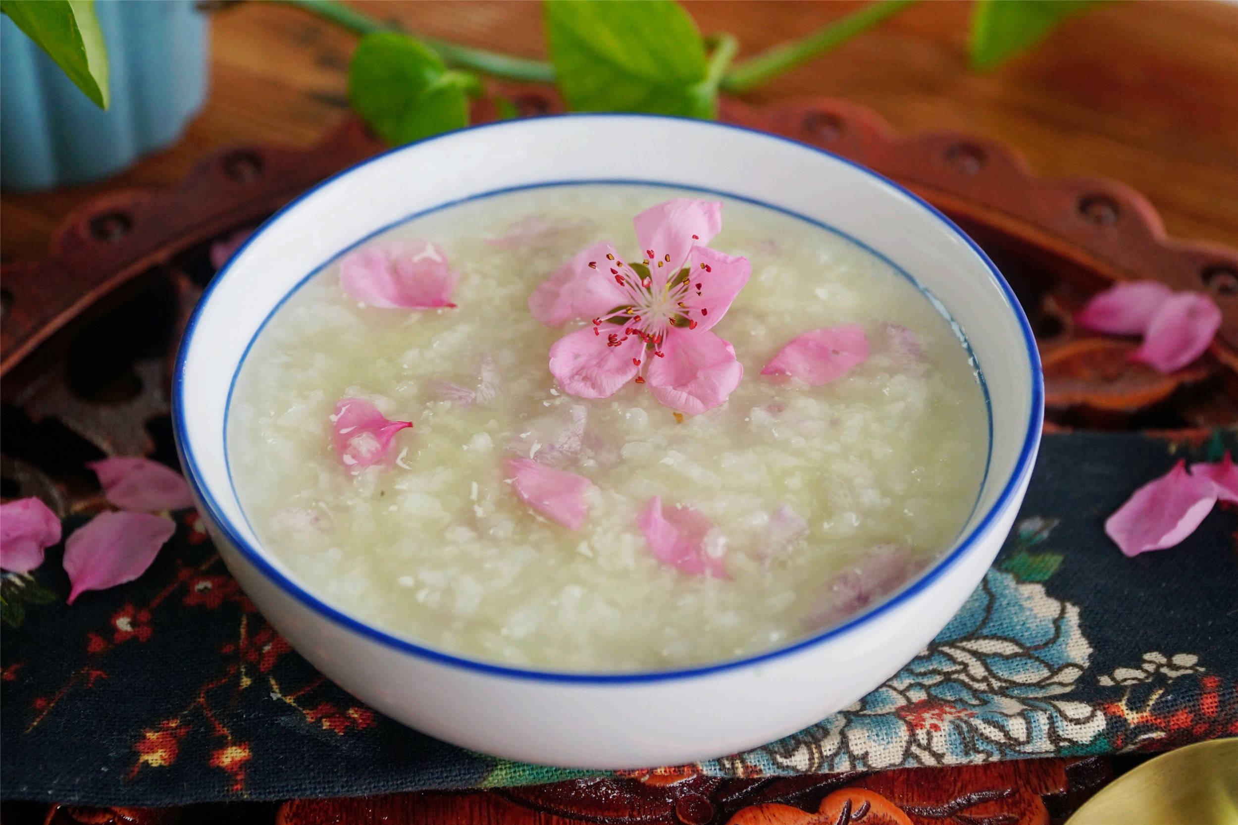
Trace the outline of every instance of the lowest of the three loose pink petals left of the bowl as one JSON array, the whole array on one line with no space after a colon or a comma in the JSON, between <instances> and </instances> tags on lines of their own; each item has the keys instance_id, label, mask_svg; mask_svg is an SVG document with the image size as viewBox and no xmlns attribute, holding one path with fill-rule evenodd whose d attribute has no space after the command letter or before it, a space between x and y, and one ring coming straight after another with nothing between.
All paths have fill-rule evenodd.
<instances>
[{"instance_id":1,"label":"lowest of the three loose pink petals left of the bowl","mask_svg":"<svg viewBox=\"0 0 1238 825\"><path fill-rule=\"evenodd\" d=\"M146 572L158 549L176 533L176 522L147 513L108 512L78 528L64 543L64 571L73 590L105 590Z\"/></svg>"}]
</instances>

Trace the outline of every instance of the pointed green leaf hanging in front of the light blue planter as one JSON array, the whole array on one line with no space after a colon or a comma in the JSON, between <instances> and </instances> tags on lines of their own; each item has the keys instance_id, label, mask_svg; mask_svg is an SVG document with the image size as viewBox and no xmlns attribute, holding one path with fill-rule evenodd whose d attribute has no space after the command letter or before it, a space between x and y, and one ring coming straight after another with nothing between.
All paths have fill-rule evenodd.
<instances>
[{"instance_id":1,"label":"pointed green leaf hanging in front of the light blue planter","mask_svg":"<svg viewBox=\"0 0 1238 825\"><path fill-rule=\"evenodd\" d=\"M111 103L108 46L94 0L2 0L0 11L56 61L100 109Z\"/></svg>"}]
</instances>

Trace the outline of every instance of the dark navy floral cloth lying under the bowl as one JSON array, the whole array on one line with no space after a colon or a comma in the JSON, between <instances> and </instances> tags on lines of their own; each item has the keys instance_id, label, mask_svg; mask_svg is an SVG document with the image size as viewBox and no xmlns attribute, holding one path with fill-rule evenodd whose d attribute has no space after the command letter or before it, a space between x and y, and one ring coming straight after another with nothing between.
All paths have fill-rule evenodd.
<instances>
[{"instance_id":1,"label":"dark navy floral cloth lying under the bowl","mask_svg":"<svg viewBox=\"0 0 1238 825\"><path fill-rule=\"evenodd\" d=\"M927 649L800 733L656 772L968 764L1238 735L1238 507L1135 559L1102 531L1176 458L1234 446L1231 432L1046 436L997 564ZM4 575L6 798L171 805L581 775L463 751L360 705L254 609L197 514L178 522L146 575L73 607L58 549L32 576Z\"/></svg>"}]
</instances>

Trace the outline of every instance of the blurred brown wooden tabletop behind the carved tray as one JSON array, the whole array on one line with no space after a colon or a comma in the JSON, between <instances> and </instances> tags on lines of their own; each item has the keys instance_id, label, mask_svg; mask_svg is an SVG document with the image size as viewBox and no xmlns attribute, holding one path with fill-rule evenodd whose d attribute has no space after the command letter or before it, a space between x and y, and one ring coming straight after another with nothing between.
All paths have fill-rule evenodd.
<instances>
[{"instance_id":1,"label":"blurred brown wooden tabletop behind the carved tray","mask_svg":"<svg viewBox=\"0 0 1238 825\"><path fill-rule=\"evenodd\" d=\"M522 56L545 55L535 2L359 2L406 27ZM687 2L742 57L859 4ZM1102 6L992 74L967 67L968 2L911 6L745 97L825 94L903 133L951 129L1021 151L1042 176L1112 177L1141 191L1172 235L1238 247L1238 6L1211 0ZM214 12L210 95L171 149L102 183L0 197L0 255L41 258L74 207L116 186L175 183L232 142L310 146L347 109L355 37L291 7Z\"/></svg>"}]
</instances>

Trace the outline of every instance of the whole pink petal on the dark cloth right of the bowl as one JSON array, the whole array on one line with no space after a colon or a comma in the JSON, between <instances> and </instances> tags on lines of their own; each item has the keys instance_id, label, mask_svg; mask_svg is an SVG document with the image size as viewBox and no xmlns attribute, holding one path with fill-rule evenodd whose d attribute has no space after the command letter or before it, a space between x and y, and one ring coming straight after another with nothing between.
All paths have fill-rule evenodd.
<instances>
[{"instance_id":1,"label":"whole pink petal on the dark cloth right of the bowl","mask_svg":"<svg viewBox=\"0 0 1238 825\"><path fill-rule=\"evenodd\" d=\"M1191 535L1217 503L1212 478L1188 476L1186 461L1135 491L1104 523L1106 534L1128 556L1164 550Z\"/></svg>"}]
</instances>

